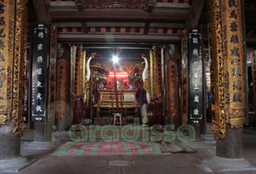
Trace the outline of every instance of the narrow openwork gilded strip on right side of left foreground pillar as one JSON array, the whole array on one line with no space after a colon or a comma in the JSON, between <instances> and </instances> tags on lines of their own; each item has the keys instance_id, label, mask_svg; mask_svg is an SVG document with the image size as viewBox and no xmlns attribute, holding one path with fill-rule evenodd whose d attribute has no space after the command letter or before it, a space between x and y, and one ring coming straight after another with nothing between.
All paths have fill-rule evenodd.
<instances>
[{"instance_id":1,"label":"narrow openwork gilded strip on right side of left foreground pillar","mask_svg":"<svg viewBox=\"0 0 256 174\"><path fill-rule=\"evenodd\" d=\"M26 1L16 1L15 14L15 54L14 54L14 69L13 69L13 110L12 110L12 125L13 134L22 136L25 125L24 117L22 116L24 109L24 51L26 41L27 28L27 8Z\"/></svg>"}]
</instances>

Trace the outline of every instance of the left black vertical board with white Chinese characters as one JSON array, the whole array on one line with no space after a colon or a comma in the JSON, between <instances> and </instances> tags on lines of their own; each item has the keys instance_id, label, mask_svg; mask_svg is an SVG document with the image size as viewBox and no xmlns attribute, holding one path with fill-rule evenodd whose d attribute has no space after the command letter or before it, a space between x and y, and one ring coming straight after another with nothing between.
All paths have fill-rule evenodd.
<instances>
[{"instance_id":1,"label":"left black vertical board with white Chinese characters","mask_svg":"<svg viewBox=\"0 0 256 174\"><path fill-rule=\"evenodd\" d=\"M48 35L49 26L47 24L35 24L32 64L32 121L45 121L46 118Z\"/></svg>"}]
</instances>

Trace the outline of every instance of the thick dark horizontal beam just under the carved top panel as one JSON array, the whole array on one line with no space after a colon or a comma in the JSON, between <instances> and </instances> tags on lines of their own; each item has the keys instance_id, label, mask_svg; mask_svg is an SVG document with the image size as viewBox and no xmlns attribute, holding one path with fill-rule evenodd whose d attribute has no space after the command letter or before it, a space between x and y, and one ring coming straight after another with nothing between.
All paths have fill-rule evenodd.
<instances>
[{"instance_id":1,"label":"thick dark horizontal beam just under the carved top panel","mask_svg":"<svg viewBox=\"0 0 256 174\"><path fill-rule=\"evenodd\" d=\"M189 17L187 10L159 11L147 13L142 9L85 9L84 11L52 11L52 19L57 21L185 21Z\"/></svg>"}]
</instances>

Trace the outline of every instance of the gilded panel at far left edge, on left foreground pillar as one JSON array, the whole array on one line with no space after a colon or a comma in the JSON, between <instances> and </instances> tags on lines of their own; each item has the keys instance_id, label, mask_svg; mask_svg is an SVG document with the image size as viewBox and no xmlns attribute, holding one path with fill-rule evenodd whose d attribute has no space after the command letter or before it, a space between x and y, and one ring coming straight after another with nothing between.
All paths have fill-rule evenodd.
<instances>
[{"instance_id":1,"label":"gilded panel at far left edge, on left foreground pillar","mask_svg":"<svg viewBox=\"0 0 256 174\"><path fill-rule=\"evenodd\" d=\"M0 14L0 114L10 119L11 114L11 85L13 65L13 37L14 37L14 2L1 2L3 6ZM4 120L4 119L2 119Z\"/></svg>"}]
</instances>

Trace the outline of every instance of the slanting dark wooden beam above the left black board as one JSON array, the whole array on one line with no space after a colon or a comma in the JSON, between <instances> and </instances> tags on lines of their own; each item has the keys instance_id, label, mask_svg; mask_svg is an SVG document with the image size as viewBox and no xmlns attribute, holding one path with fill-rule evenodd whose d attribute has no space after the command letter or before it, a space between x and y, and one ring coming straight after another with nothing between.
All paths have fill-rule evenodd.
<instances>
[{"instance_id":1,"label":"slanting dark wooden beam above the left black board","mask_svg":"<svg viewBox=\"0 0 256 174\"><path fill-rule=\"evenodd\" d=\"M37 23L51 23L49 4L45 0L33 0L33 6L37 15Z\"/></svg>"}]
</instances>

